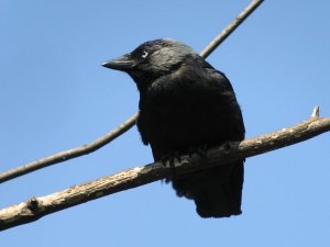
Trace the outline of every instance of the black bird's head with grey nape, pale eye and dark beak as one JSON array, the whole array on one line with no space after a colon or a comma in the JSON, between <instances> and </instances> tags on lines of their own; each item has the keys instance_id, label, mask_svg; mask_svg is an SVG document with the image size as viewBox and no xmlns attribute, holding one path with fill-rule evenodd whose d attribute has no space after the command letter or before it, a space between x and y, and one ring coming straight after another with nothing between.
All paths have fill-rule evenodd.
<instances>
[{"instance_id":1,"label":"black bird's head with grey nape, pale eye and dark beak","mask_svg":"<svg viewBox=\"0 0 330 247\"><path fill-rule=\"evenodd\" d=\"M164 38L145 42L133 52L108 60L102 66L128 72L139 87L172 74L191 56L198 56L191 47Z\"/></svg>"}]
</instances>

